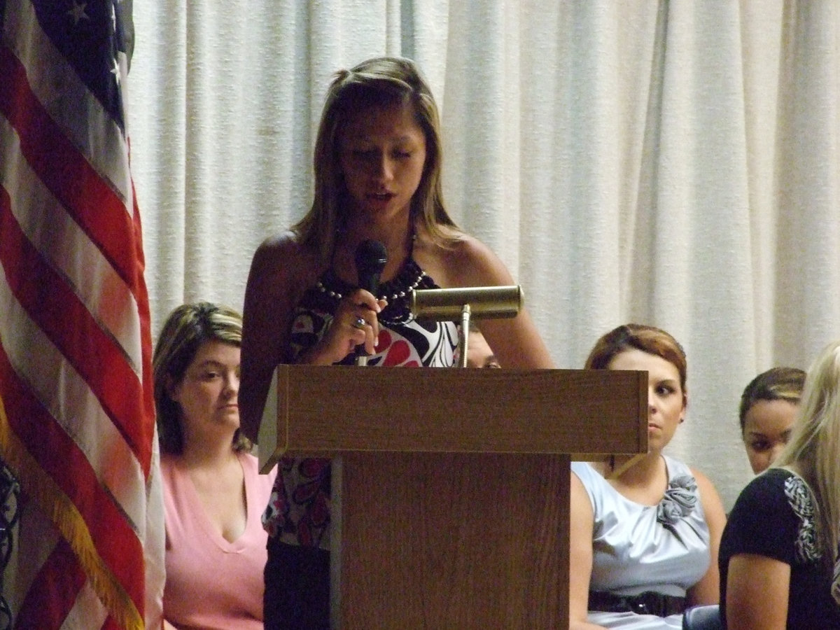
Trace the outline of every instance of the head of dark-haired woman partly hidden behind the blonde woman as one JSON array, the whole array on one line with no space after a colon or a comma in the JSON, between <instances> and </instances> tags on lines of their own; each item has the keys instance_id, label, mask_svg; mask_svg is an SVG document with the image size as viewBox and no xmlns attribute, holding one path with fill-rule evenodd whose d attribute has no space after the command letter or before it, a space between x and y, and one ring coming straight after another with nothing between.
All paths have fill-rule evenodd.
<instances>
[{"instance_id":1,"label":"head of dark-haired woman partly hidden behind the blonde woman","mask_svg":"<svg viewBox=\"0 0 840 630\"><path fill-rule=\"evenodd\" d=\"M804 370L774 367L744 388L738 419L749 465L756 475L767 470L788 443L804 383Z\"/></svg>"}]
</instances>

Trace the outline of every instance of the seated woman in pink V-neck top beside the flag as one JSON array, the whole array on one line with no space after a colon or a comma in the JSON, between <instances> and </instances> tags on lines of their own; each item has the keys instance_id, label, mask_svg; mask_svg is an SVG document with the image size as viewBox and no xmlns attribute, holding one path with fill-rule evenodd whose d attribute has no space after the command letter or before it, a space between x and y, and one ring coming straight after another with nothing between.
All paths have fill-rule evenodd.
<instances>
[{"instance_id":1,"label":"seated woman in pink V-neck top beside the flag","mask_svg":"<svg viewBox=\"0 0 840 630\"><path fill-rule=\"evenodd\" d=\"M165 628L263 627L276 470L260 475L239 434L238 312L177 307L155 348L155 406L166 519Z\"/></svg>"}]
</instances>

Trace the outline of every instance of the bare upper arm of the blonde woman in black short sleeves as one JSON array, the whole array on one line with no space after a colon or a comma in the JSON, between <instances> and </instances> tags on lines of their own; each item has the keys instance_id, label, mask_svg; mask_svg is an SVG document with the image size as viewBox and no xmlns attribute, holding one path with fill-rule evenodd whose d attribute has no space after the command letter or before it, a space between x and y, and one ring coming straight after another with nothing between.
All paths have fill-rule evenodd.
<instances>
[{"instance_id":1,"label":"bare upper arm of the blonde woman in black short sleeves","mask_svg":"<svg viewBox=\"0 0 840 630\"><path fill-rule=\"evenodd\" d=\"M727 570L729 630L785 630L790 564L756 554L738 554Z\"/></svg>"}]
</instances>

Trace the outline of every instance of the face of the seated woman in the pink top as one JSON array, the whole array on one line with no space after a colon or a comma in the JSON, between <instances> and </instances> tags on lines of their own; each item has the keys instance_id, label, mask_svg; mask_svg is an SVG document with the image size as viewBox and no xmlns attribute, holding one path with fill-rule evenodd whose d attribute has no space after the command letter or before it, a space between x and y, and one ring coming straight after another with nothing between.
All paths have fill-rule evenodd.
<instances>
[{"instance_id":1,"label":"face of the seated woman in the pink top","mask_svg":"<svg viewBox=\"0 0 840 630\"><path fill-rule=\"evenodd\" d=\"M220 341L202 344L181 382L170 392L181 407L184 437L239 428L239 347Z\"/></svg>"}]
</instances>

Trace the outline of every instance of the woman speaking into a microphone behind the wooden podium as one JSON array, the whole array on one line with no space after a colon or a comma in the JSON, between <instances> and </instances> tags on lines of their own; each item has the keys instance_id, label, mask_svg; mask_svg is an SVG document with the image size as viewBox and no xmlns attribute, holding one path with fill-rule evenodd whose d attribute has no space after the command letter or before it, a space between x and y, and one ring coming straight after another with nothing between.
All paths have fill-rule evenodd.
<instances>
[{"instance_id":1,"label":"woman speaking into a microphone behind the wooden podium","mask_svg":"<svg viewBox=\"0 0 840 630\"><path fill-rule=\"evenodd\" d=\"M375 58L335 74L312 207L251 263L239 396L249 438L276 365L352 365L359 355L375 366L453 365L456 323L414 320L412 290L512 284L501 260L449 218L441 145L437 107L412 61ZM374 251L372 274L357 256L370 240L383 254ZM552 367L527 312L481 329L501 365ZM281 462L264 516L266 628L328 627L329 483L328 460Z\"/></svg>"}]
</instances>

